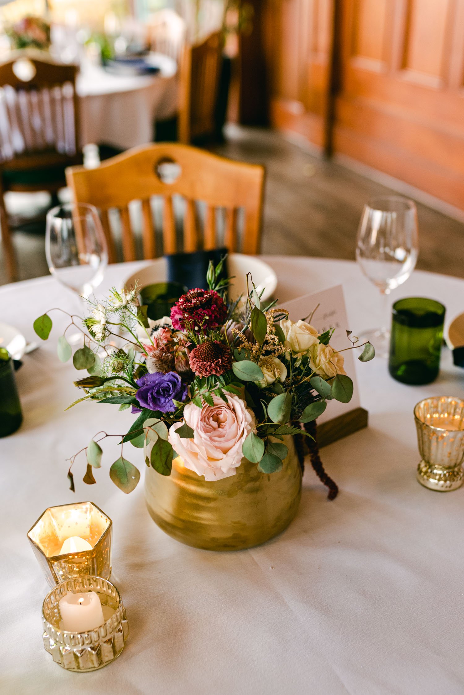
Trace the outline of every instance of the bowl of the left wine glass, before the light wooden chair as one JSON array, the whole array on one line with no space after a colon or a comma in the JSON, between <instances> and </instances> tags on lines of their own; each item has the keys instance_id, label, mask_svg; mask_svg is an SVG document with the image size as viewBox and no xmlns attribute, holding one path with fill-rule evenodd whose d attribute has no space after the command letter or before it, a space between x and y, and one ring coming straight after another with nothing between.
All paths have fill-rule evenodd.
<instances>
[{"instance_id":1,"label":"bowl of the left wine glass, before the light wooden chair","mask_svg":"<svg viewBox=\"0 0 464 695\"><path fill-rule=\"evenodd\" d=\"M47 213L45 253L53 277L84 300L103 280L108 250L97 208L67 203Z\"/></svg>"}]
</instances>

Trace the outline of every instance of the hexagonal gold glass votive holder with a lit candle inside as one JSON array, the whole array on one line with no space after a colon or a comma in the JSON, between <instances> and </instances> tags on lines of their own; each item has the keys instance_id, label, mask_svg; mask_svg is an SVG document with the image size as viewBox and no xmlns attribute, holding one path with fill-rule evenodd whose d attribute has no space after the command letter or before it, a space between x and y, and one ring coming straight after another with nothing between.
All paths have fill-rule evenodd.
<instances>
[{"instance_id":1,"label":"hexagonal gold glass votive holder with a lit candle inside","mask_svg":"<svg viewBox=\"0 0 464 695\"><path fill-rule=\"evenodd\" d=\"M112 527L109 516L93 502L45 509L27 536L49 585L84 575L109 579ZM64 541L76 536L92 548L60 555Z\"/></svg>"}]
</instances>

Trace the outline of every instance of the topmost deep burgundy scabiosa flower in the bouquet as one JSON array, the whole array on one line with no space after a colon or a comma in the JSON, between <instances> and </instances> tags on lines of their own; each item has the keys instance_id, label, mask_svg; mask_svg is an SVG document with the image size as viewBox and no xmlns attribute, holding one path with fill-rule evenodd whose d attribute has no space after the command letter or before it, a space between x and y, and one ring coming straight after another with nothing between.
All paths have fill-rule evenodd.
<instances>
[{"instance_id":1,"label":"topmost deep burgundy scabiosa flower in the bouquet","mask_svg":"<svg viewBox=\"0 0 464 695\"><path fill-rule=\"evenodd\" d=\"M173 327L178 330L207 331L226 320L227 306L214 290L195 288L182 295L171 309Z\"/></svg>"}]
</instances>

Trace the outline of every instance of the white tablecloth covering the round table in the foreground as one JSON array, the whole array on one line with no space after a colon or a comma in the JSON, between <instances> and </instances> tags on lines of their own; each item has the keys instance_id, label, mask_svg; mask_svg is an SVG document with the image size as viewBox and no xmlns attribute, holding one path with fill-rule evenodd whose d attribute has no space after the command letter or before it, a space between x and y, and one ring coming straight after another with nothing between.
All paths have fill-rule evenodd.
<instances>
[{"instance_id":1,"label":"white tablecloth covering the round table in the foreground","mask_svg":"<svg viewBox=\"0 0 464 695\"><path fill-rule=\"evenodd\" d=\"M354 334L379 324L375 288L351 261L263 256L278 277L279 304L342 284ZM110 265L97 297L122 286L138 263ZM392 293L433 297L447 318L464 311L464 279L416 271ZM33 320L80 300L51 277L0 288L0 319L29 340ZM129 411L79 397L78 373L56 356L66 317L51 312L47 342L17 372L24 423L0 441L0 692L35 695L462 695L464 692L464 487L438 493L415 477L413 418L429 395L464 397L464 370L442 352L438 379L406 386L385 360L356 361L367 428L322 449L338 483L329 501L309 461L301 505L285 532L263 546L215 553L184 546L151 520L142 482L125 495L108 469L119 457L106 440L97 484L85 460L69 459L104 430L126 432ZM80 374L82 375L82 373ZM116 438L115 438L116 439ZM113 442L113 443L111 443ZM140 471L140 450L125 456ZM106 669L61 669L42 645L49 587L26 534L53 505L92 500L113 520L112 581L130 635Z\"/></svg>"}]
</instances>

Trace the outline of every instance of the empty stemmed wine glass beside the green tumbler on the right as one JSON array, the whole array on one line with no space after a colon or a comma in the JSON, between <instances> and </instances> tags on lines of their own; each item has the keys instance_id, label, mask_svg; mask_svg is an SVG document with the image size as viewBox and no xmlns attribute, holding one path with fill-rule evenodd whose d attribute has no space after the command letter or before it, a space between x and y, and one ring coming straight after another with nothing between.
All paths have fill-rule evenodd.
<instances>
[{"instance_id":1,"label":"empty stemmed wine glass beside the green tumbler on the right","mask_svg":"<svg viewBox=\"0 0 464 695\"><path fill-rule=\"evenodd\" d=\"M411 275L418 252L417 210L412 200L388 195L373 198L364 206L356 236L356 260L381 292L385 322L387 297ZM374 345L379 357L388 357L390 331L386 325L362 337Z\"/></svg>"}]
</instances>

